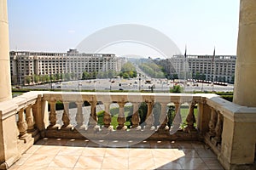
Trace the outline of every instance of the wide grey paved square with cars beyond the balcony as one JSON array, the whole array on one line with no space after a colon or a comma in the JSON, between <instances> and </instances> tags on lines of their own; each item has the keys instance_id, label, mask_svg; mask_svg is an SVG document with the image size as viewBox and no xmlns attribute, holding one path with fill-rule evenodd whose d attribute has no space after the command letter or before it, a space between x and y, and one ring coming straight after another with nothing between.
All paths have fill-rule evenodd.
<instances>
[{"instance_id":1,"label":"wide grey paved square with cars beyond the balcony","mask_svg":"<svg viewBox=\"0 0 256 170\"><path fill-rule=\"evenodd\" d=\"M146 80L150 81L147 83ZM194 85L192 82L188 82L187 86L184 87L182 83L179 84L183 87L185 92L193 91L217 91L217 92L232 92L233 85L219 86L211 84L198 82ZM69 81L69 82L59 82L59 83L48 83L42 85L29 86L27 88L32 89L63 89L63 90L128 90L128 91L151 91L151 87L154 86L154 91L169 92L169 89L174 86L174 82L167 79L155 79L148 77L137 77L132 79L122 79L122 78L112 78L112 79L95 79L95 80L79 80L79 81Z\"/></svg>"}]
</instances>

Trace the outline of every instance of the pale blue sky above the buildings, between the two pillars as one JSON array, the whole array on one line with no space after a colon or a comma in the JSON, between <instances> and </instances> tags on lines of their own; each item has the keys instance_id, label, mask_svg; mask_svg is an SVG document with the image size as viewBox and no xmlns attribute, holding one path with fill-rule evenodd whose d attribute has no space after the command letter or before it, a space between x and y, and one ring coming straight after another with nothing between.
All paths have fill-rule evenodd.
<instances>
[{"instance_id":1,"label":"pale blue sky above the buildings, between the two pillars","mask_svg":"<svg viewBox=\"0 0 256 170\"><path fill-rule=\"evenodd\" d=\"M216 55L233 55L239 5L239 0L9 0L10 50L67 52L98 31L125 24L159 31L181 54L187 47L187 54L211 55L215 47ZM153 44L158 35L146 37ZM152 44L120 41L97 52L163 57Z\"/></svg>"}]
</instances>

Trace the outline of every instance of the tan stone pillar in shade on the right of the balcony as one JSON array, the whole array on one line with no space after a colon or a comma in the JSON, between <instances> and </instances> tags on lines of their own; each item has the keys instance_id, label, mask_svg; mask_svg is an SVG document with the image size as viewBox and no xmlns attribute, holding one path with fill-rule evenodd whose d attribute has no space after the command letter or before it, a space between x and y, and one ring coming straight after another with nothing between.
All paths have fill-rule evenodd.
<instances>
[{"instance_id":1,"label":"tan stone pillar in shade on the right of the balcony","mask_svg":"<svg viewBox=\"0 0 256 170\"><path fill-rule=\"evenodd\" d=\"M240 1L236 76L233 102L256 106L256 1Z\"/></svg>"}]
</instances>

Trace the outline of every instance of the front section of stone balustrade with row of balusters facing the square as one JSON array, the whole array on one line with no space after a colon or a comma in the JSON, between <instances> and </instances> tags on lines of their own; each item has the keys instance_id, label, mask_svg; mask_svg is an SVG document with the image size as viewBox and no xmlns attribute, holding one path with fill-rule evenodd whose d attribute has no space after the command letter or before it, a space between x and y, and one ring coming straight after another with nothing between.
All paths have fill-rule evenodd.
<instances>
[{"instance_id":1,"label":"front section of stone balustrade with row of balusters facing the square","mask_svg":"<svg viewBox=\"0 0 256 170\"><path fill-rule=\"evenodd\" d=\"M42 97L44 102L49 103L49 126L44 131L45 137L57 138L89 138L89 139L180 139L197 140L200 139L195 127L195 105L201 100L201 96L191 94L126 94L126 93L50 93ZM57 120L55 111L56 102L64 105L64 111ZM90 104L90 112L83 112L84 102ZM75 103L75 111L70 111L68 105ZM98 124L96 115L96 105L102 104L104 107L103 124ZM138 109L139 105L147 105L147 113L144 113L145 121L141 122ZM159 115L154 113L154 105L160 105ZM113 127L113 115L111 115L110 105L116 104L119 107L117 115L117 126ZM125 115L125 105L132 107L131 127L125 125L127 116ZM189 107L187 117L182 121L180 107L186 104ZM174 105L174 122L170 128L174 133L169 133L167 125L167 111L169 105ZM48 115L47 113L45 113ZM87 116L85 116L87 115ZM74 116L74 122L70 119ZM88 117L88 120L85 120ZM58 124L57 122L61 122ZM84 122L88 122L85 124ZM185 122L186 124L181 125ZM62 127L61 127L62 124ZM71 124L75 124L72 126ZM108 132L107 132L108 131ZM120 132L119 132L120 131ZM108 135L105 135L108 133ZM103 135L104 134L104 135Z\"/></svg>"}]
</instances>

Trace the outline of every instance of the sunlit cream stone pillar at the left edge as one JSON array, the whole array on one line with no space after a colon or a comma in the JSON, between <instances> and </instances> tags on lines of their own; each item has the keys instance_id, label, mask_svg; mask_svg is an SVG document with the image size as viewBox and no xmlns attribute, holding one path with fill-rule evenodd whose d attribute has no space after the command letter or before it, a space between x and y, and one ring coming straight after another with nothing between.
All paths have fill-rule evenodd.
<instances>
[{"instance_id":1,"label":"sunlit cream stone pillar at the left edge","mask_svg":"<svg viewBox=\"0 0 256 170\"><path fill-rule=\"evenodd\" d=\"M0 0L0 102L12 98L9 63L7 1Z\"/></svg>"}]
</instances>

